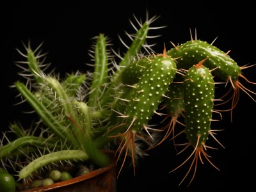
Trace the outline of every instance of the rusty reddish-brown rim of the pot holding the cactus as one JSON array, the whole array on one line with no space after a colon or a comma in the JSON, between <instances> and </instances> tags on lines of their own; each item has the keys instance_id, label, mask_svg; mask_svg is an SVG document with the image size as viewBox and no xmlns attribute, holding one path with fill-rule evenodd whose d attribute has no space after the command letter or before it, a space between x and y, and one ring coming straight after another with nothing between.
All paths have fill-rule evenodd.
<instances>
[{"instance_id":1,"label":"rusty reddish-brown rim of the pot holding the cactus","mask_svg":"<svg viewBox=\"0 0 256 192\"><path fill-rule=\"evenodd\" d=\"M114 157L115 156L115 151L113 151L113 150L102 150L102 152L105 152L106 154L108 154L111 157L111 160L112 160L111 163L106 167L98 168L97 170L93 170L90 173L80 175L80 176L74 177L72 179L56 182L54 184L51 184L50 186L44 186L44 187L33 188L33 189L26 189L26 190L18 191L18 192L49 191L49 190L52 190L52 189L61 188L63 186L68 186L68 185L71 185L71 184L75 184L77 182L81 182L83 180L90 179L92 177L100 175L104 172L108 172L108 170L111 170L112 168L115 168L115 166L116 166L116 161L115 161L115 157Z\"/></svg>"}]
</instances>

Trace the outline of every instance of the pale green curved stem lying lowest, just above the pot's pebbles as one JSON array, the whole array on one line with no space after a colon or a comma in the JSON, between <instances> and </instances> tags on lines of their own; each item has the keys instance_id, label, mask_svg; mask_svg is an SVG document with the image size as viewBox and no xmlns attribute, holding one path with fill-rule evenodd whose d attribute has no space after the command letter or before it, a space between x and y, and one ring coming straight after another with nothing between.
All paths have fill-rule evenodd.
<instances>
[{"instance_id":1,"label":"pale green curved stem lying lowest, just above the pot's pebbles","mask_svg":"<svg viewBox=\"0 0 256 192\"><path fill-rule=\"evenodd\" d=\"M89 157L83 150L61 150L38 157L19 172L19 179L26 179L39 168L59 161L86 161Z\"/></svg>"}]
</instances>

